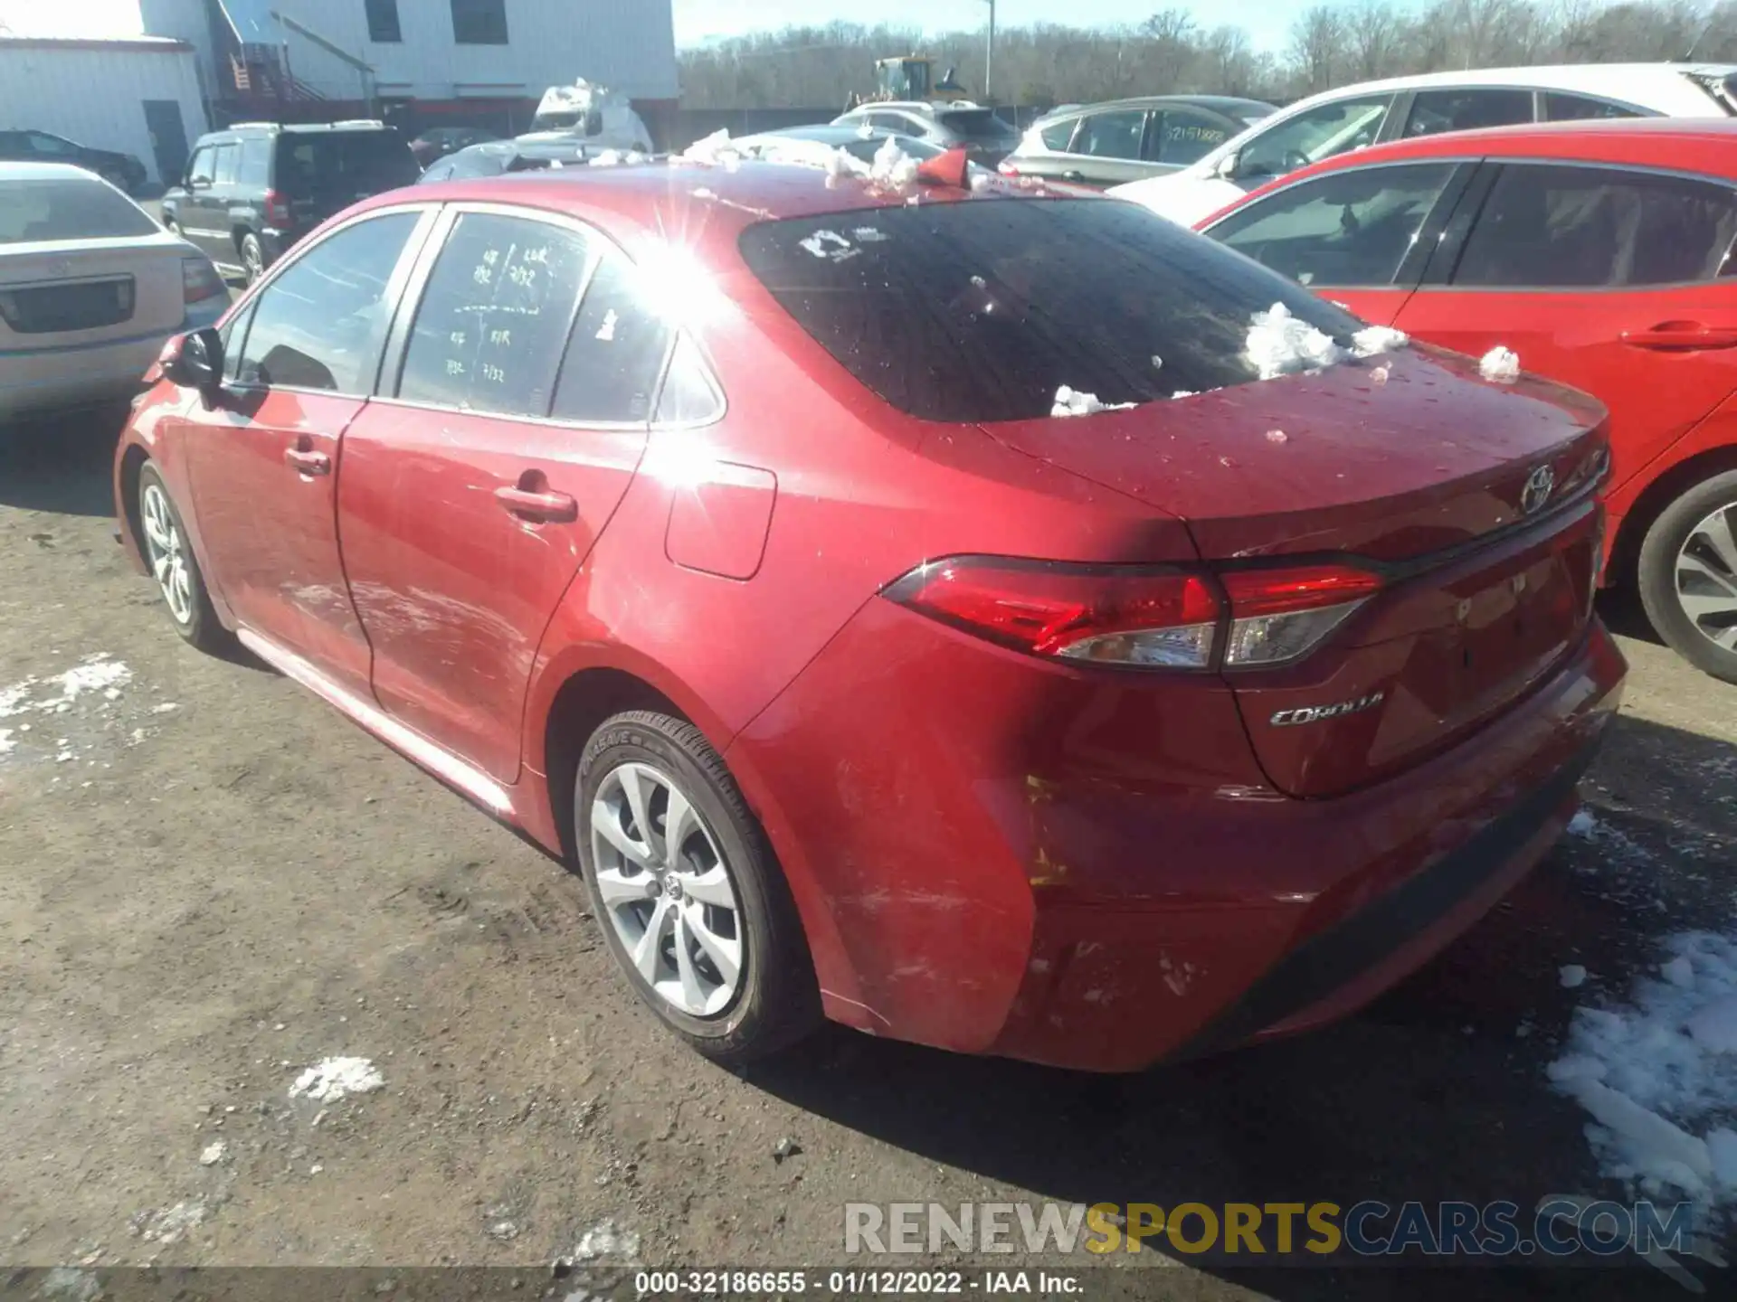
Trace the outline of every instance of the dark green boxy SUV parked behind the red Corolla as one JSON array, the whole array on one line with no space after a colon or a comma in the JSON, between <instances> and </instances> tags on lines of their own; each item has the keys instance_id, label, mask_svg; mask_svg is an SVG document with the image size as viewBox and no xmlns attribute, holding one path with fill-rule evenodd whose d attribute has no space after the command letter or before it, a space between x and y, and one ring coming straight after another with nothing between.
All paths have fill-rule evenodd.
<instances>
[{"instance_id":1,"label":"dark green boxy SUV parked behind the red Corolla","mask_svg":"<svg viewBox=\"0 0 1737 1302\"><path fill-rule=\"evenodd\" d=\"M252 285L332 214L420 174L405 137L379 122L243 122L200 137L163 194L163 226Z\"/></svg>"}]
</instances>

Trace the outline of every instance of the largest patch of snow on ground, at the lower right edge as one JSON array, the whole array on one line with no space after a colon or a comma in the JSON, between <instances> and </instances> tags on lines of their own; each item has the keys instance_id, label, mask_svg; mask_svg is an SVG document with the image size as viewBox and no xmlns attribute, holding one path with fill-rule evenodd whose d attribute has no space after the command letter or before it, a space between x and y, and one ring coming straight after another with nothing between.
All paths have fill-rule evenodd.
<instances>
[{"instance_id":1,"label":"largest patch of snow on ground, at the lower right edge","mask_svg":"<svg viewBox=\"0 0 1737 1302\"><path fill-rule=\"evenodd\" d=\"M1548 1073L1593 1115L1603 1174L1704 1212L1737 1208L1737 936L1662 941L1666 979L1638 977L1624 1007L1581 1007ZM1567 983L1565 983L1567 984Z\"/></svg>"}]
</instances>

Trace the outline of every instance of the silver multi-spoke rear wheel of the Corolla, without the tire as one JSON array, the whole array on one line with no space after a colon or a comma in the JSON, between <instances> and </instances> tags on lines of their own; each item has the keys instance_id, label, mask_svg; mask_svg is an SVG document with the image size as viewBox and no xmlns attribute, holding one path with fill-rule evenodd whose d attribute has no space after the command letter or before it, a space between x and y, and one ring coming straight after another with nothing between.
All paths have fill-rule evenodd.
<instances>
[{"instance_id":1,"label":"silver multi-spoke rear wheel of the Corolla, without the tire","mask_svg":"<svg viewBox=\"0 0 1737 1302\"><path fill-rule=\"evenodd\" d=\"M700 811L662 769L611 769L591 806L598 894L639 977L677 1012L716 1017L742 986L735 882Z\"/></svg>"}]
</instances>

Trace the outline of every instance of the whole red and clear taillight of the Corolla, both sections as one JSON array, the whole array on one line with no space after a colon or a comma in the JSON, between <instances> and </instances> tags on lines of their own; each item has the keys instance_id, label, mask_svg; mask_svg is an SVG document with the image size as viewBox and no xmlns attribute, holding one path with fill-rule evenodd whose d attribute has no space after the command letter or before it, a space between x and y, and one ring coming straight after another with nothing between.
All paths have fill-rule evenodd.
<instances>
[{"instance_id":1,"label":"whole red and clear taillight of the Corolla, both sections","mask_svg":"<svg viewBox=\"0 0 1737 1302\"><path fill-rule=\"evenodd\" d=\"M954 557L912 569L882 595L1028 654L1150 668L1212 665L1228 597L1223 665L1249 668L1308 654L1379 587L1343 564L1205 575Z\"/></svg>"}]
</instances>

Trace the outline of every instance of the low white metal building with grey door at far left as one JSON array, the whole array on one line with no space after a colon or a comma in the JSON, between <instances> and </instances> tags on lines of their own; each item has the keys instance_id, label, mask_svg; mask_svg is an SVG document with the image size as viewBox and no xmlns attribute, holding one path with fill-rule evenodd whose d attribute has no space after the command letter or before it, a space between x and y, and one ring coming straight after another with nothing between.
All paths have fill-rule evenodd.
<instances>
[{"instance_id":1,"label":"low white metal building with grey door at far left","mask_svg":"<svg viewBox=\"0 0 1737 1302\"><path fill-rule=\"evenodd\" d=\"M0 130L38 130L181 175L207 130L196 56L179 40L0 36Z\"/></svg>"}]
</instances>

